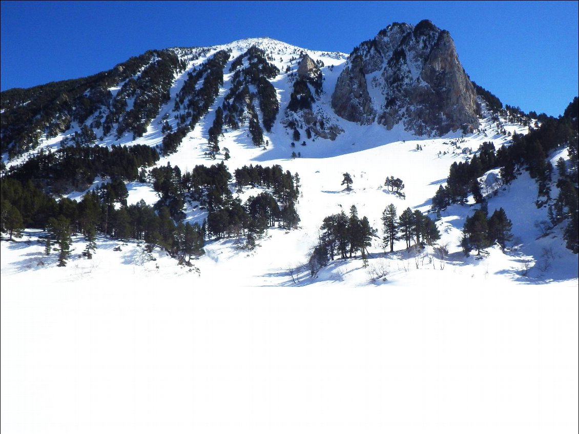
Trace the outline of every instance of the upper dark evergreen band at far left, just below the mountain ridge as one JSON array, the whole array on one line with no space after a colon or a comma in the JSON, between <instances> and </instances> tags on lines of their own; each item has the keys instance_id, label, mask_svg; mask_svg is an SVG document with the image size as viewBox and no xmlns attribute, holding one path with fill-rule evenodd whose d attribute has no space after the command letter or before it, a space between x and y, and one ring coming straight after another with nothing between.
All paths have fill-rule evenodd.
<instances>
[{"instance_id":1,"label":"upper dark evergreen band at far left, just below the mountain ridge","mask_svg":"<svg viewBox=\"0 0 579 434\"><path fill-rule=\"evenodd\" d=\"M22 183L31 181L47 192L65 194L87 189L97 175L135 181L139 168L158 160L156 150L146 145L65 146L55 152L41 149L24 163L10 167L2 182L8 178Z\"/></svg>"}]
</instances>

